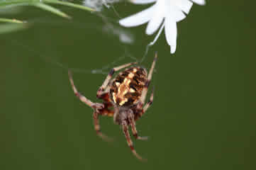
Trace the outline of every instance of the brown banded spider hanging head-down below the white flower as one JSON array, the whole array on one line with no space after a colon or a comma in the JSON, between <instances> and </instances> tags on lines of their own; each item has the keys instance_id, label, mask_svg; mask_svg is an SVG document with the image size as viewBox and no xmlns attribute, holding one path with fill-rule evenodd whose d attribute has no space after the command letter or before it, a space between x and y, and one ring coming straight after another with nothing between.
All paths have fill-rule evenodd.
<instances>
[{"instance_id":1,"label":"brown banded spider hanging head-down below the white flower","mask_svg":"<svg viewBox=\"0 0 256 170\"><path fill-rule=\"evenodd\" d=\"M72 74L69 71L69 80L75 96L77 96L80 101L87 104L94 110L93 118L96 134L99 135L99 137L102 137L104 140L110 140L109 137L101 133L99 115L113 117L113 122L121 125L131 151L135 157L140 160L145 159L140 157L140 155L135 151L133 142L130 139L128 128L131 128L135 139L148 139L147 137L140 137L138 135L135 121L142 117L145 111L147 111L152 104L153 91L150 95L150 100L146 104L145 98L148 93L148 86L150 85L150 80L152 78L152 72L154 70L156 60L157 54L155 54L155 58L152 62L149 74L143 67L132 67L133 64L138 64L137 62L130 62L128 64L123 64L119 67L114 67L111 69L104 83L101 85L96 94L96 97L102 99L103 103L94 103L85 96L82 96L82 94L80 94L77 91L77 88L74 86ZM115 72L126 67L129 68L125 69L123 72L120 72L114 79L111 79Z\"/></svg>"}]
</instances>

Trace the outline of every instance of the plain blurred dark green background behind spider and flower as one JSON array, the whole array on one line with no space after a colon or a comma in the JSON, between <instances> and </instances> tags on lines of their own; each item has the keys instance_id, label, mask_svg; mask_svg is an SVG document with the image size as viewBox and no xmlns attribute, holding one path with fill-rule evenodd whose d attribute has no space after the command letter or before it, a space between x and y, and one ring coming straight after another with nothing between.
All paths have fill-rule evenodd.
<instances>
[{"instance_id":1,"label":"plain blurred dark green background behind spider and flower","mask_svg":"<svg viewBox=\"0 0 256 170\"><path fill-rule=\"evenodd\" d=\"M150 48L142 64L150 67L158 52L155 101L137 123L150 139L135 141L148 162L133 156L112 118L101 118L101 128L114 142L96 136L92 110L75 98L66 69L76 68L77 88L97 101L106 74L91 71L133 61L128 55L140 60L154 38L145 26L128 28L135 42L126 45L87 11L55 6L72 20L34 7L0 13L33 23L0 35L0 169L256 169L255 5L194 5L178 23L174 55L163 34ZM124 17L147 6L115 7ZM118 21L111 8L102 14Z\"/></svg>"}]
</instances>

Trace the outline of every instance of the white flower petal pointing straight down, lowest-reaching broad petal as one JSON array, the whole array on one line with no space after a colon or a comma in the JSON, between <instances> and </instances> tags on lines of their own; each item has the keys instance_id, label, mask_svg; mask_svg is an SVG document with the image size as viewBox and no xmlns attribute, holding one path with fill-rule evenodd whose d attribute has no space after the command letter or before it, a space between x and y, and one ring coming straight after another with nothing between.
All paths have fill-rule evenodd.
<instances>
[{"instance_id":1,"label":"white flower petal pointing straight down, lowest-reaching broad petal","mask_svg":"<svg viewBox=\"0 0 256 170\"><path fill-rule=\"evenodd\" d=\"M165 18L165 38L169 46L171 46L171 53L176 51L177 41L177 23L171 16Z\"/></svg>"}]
</instances>

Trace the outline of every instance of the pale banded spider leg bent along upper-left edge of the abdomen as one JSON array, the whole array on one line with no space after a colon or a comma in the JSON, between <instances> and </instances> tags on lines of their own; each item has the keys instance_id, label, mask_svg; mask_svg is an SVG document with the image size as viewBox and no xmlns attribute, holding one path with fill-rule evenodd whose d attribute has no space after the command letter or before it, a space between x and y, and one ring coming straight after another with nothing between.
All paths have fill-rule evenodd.
<instances>
[{"instance_id":1,"label":"pale banded spider leg bent along upper-left edge of the abdomen","mask_svg":"<svg viewBox=\"0 0 256 170\"><path fill-rule=\"evenodd\" d=\"M109 85L109 81L111 80L111 77L113 76L113 74L115 72L117 72L120 69L129 67L130 65L133 65L133 64L137 64L137 62L130 62L128 64L123 64L118 67L113 67L113 69L111 69L111 71L108 73L108 76L106 77L105 81L103 82L103 84L101 85L99 90L97 91L97 98L101 98L101 95L106 92L106 87Z\"/></svg>"}]
</instances>

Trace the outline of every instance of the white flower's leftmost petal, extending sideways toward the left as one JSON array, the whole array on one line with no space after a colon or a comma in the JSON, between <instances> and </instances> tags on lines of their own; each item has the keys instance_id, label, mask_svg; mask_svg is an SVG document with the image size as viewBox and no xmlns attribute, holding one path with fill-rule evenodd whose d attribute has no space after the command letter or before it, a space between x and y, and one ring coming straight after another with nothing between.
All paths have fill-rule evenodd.
<instances>
[{"instance_id":1,"label":"white flower's leftmost petal, extending sideways toward the left","mask_svg":"<svg viewBox=\"0 0 256 170\"><path fill-rule=\"evenodd\" d=\"M154 12L155 12L155 5L150 6L150 8L147 8L144 11L135 13L132 16L123 18L119 21L119 23L121 24L121 26L125 26L125 27L140 26L143 23L147 23L148 21L150 21L150 19L154 15Z\"/></svg>"}]
</instances>

